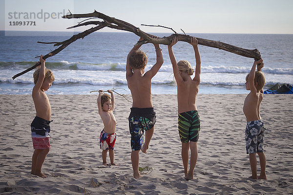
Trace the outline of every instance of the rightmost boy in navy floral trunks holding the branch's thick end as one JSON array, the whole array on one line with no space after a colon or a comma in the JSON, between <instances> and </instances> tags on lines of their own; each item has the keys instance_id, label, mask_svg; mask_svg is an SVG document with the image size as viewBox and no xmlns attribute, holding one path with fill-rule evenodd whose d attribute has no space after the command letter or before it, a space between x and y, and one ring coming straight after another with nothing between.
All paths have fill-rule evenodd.
<instances>
[{"instance_id":1,"label":"rightmost boy in navy floral trunks holding the branch's thick end","mask_svg":"<svg viewBox=\"0 0 293 195\"><path fill-rule=\"evenodd\" d=\"M257 71L255 67L257 65ZM263 99L263 87L265 85L265 76L261 72L264 67L263 59L254 61L251 72L246 76L246 90L251 92L244 100L243 112L245 114L247 125L245 130L246 152L249 154L251 172L250 178L267 179L266 176L266 156L263 150L265 125L260 117L260 104ZM260 162L260 175L256 173L256 153Z\"/></svg>"}]
</instances>

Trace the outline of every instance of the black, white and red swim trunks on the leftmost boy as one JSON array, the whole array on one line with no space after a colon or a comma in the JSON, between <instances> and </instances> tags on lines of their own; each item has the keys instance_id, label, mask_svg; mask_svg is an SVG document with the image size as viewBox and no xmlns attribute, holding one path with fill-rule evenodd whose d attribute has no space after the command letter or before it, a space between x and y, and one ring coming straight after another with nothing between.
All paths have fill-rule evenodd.
<instances>
[{"instance_id":1,"label":"black, white and red swim trunks on the leftmost boy","mask_svg":"<svg viewBox=\"0 0 293 195\"><path fill-rule=\"evenodd\" d=\"M34 149L50 149L50 122L41 117L35 117L31 123L31 134Z\"/></svg>"}]
</instances>

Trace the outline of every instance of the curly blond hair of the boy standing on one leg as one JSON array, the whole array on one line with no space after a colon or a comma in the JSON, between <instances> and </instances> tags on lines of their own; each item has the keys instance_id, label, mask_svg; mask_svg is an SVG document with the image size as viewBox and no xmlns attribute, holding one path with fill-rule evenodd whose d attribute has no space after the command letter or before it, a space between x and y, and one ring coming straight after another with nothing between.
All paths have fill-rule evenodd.
<instances>
[{"instance_id":1,"label":"curly blond hair of the boy standing on one leg","mask_svg":"<svg viewBox=\"0 0 293 195\"><path fill-rule=\"evenodd\" d=\"M130 56L129 56L129 65L132 69L141 69L146 67L147 63L147 55L142 50L135 50Z\"/></svg>"}]
</instances>

